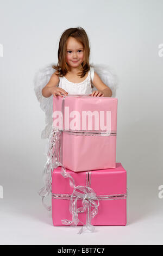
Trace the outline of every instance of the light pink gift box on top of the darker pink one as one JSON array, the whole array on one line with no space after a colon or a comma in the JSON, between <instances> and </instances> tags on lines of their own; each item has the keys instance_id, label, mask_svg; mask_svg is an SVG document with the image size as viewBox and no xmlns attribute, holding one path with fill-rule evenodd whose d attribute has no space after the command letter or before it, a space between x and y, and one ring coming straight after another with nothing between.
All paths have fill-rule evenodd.
<instances>
[{"instance_id":1,"label":"light pink gift box on top of the darker pink one","mask_svg":"<svg viewBox=\"0 0 163 256\"><path fill-rule=\"evenodd\" d=\"M64 105L63 105L64 103ZM116 166L116 130L117 130L117 99L112 97L92 97L92 96L60 96L54 98L53 111L60 111L64 114L66 107L69 113L78 111L80 117L78 121L81 129L76 131L65 129L65 115L63 118L62 132L62 163L67 169L73 172L83 172L86 170L98 170L115 168ZM103 131L99 125L99 132L92 122L92 129L88 126L82 130L82 111L107 111L111 113L110 132L107 135L106 129ZM70 122L73 118L70 118ZM55 118L53 119L55 120ZM94 118L92 120L95 120ZM100 118L99 118L100 120ZM54 123L53 123L54 124ZM79 123L78 123L79 124ZM105 115L106 126L106 115ZM56 126L55 126L56 127ZM69 126L70 127L70 126ZM66 130L66 131L65 131ZM83 132L81 132L83 131ZM91 132L92 131L92 132Z\"/></svg>"}]
</instances>

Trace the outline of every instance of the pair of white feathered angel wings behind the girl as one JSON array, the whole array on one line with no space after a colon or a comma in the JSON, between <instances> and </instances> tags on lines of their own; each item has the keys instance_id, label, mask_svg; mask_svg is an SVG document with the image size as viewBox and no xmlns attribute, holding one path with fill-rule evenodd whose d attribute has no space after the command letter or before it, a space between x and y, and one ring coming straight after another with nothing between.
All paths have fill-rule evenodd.
<instances>
[{"instance_id":1,"label":"pair of white feathered angel wings behind the girl","mask_svg":"<svg viewBox=\"0 0 163 256\"><path fill-rule=\"evenodd\" d=\"M112 97L116 96L117 89L117 76L114 74L114 71L109 66L105 65L93 65L95 72L99 75L101 80L112 90ZM34 90L37 97L37 100L40 102L41 109L45 112L45 123L46 127L41 133L41 138L46 139L49 137L52 123L53 123L53 96L51 97L43 97L42 89L46 86L51 78L52 74L55 72L55 69L52 68L52 65L47 66L46 68L40 69L35 73L34 77ZM92 84L93 86L93 84ZM93 87L92 90L96 90Z\"/></svg>"}]
</instances>

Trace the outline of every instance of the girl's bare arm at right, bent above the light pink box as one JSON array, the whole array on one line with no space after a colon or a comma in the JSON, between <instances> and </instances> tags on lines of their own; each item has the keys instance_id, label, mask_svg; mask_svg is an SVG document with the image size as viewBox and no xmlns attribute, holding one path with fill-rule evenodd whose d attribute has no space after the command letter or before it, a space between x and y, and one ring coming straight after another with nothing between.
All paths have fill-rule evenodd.
<instances>
[{"instance_id":1,"label":"girl's bare arm at right, bent above the light pink box","mask_svg":"<svg viewBox=\"0 0 163 256\"><path fill-rule=\"evenodd\" d=\"M105 97L111 97L112 91L111 89L106 86L106 84L103 83L101 78L97 75L95 72L94 78L93 78L93 86L96 87L97 91L94 91L92 93L92 96L105 96Z\"/></svg>"}]
</instances>

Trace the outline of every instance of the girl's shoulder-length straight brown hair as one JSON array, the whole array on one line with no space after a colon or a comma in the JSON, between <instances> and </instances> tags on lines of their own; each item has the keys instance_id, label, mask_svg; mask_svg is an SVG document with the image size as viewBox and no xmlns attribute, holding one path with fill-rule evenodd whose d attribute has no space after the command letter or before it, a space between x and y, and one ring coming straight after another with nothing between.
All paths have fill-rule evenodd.
<instances>
[{"instance_id":1,"label":"girl's shoulder-length straight brown hair","mask_svg":"<svg viewBox=\"0 0 163 256\"><path fill-rule=\"evenodd\" d=\"M66 47L67 47L67 39L72 36L79 42L83 44L84 47L84 60L82 63L82 70L79 72L80 77L84 77L86 72L90 70L89 58L90 58L90 46L89 39L85 30L82 27L77 28L68 28L62 33L59 48L58 48L58 64L57 66L53 65L53 69L58 71L58 75L60 77L65 76L70 68L66 63Z\"/></svg>"}]
</instances>

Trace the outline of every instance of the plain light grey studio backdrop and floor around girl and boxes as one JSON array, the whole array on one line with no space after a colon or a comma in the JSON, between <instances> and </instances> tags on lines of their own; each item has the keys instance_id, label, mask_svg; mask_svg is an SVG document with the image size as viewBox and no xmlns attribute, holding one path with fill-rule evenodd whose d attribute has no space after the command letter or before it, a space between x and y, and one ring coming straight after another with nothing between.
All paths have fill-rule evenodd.
<instances>
[{"instance_id":1,"label":"plain light grey studio backdrop and floor around girl and boxes","mask_svg":"<svg viewBox=\"0 0 163 256\"><path fill-rule=\"evenodd\" d=\"M160 244L162 174L163 1L0 1L1 244ZM41 205L45 116L33 90L35 72L57 62L61 33L82 26L91 62L119 78L117 162L128 172L127 227L53 227Z\"/></svg>"}]
</instances>

